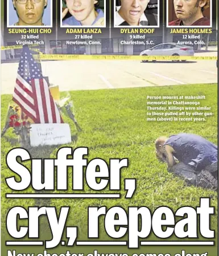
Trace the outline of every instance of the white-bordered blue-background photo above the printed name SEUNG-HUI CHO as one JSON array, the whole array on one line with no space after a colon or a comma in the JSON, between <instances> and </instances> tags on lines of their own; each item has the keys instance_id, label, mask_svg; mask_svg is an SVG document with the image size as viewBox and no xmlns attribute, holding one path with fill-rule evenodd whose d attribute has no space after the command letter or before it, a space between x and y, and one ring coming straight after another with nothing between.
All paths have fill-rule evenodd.
<instances>
[{"instance_id":1,"label":"white-bordered blue-background photo above the printed name SEUNG-HUI CHO","mask_svg":"<svg viewBox=\"0 0 219 256\"><path fill-rule=\"evenodd\" d=\"M7 27L52 27L52 0L7 0Z\"/></svg>"}]
</instances>

